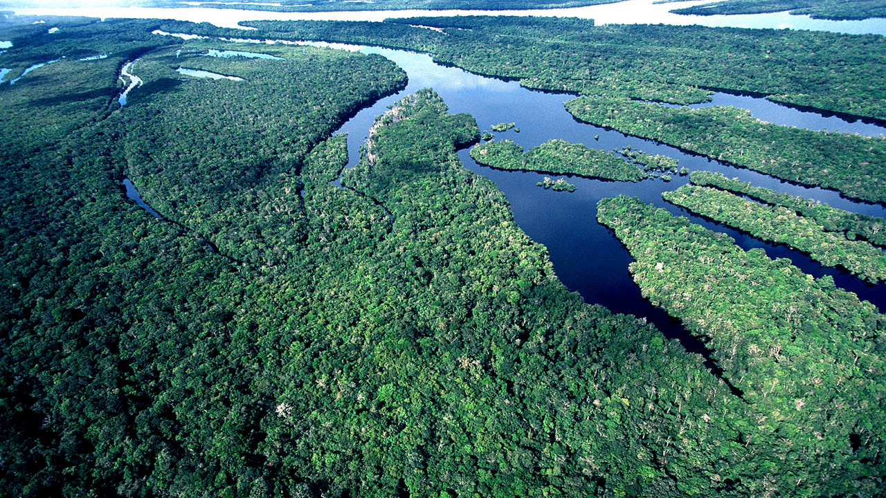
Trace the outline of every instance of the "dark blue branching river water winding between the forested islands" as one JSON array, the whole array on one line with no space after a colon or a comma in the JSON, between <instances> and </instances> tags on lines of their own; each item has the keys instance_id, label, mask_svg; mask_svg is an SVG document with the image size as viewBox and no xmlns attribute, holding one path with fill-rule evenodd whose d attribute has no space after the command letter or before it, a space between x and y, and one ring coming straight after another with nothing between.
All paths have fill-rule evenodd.
<instances>
[{"instance_id":1,"label":"dark blue branching river water winding between the forested islands","mask_svg":"<svg viewBox=\"0 0 886 498\"><path fill-rule=\"evenodd\" d=\"M418 89L431 87L444 98L451 113L473 115L481 131L487 131L491 125L499 122L517 123L519 132L512 129L503 133L494 133L494 136L496 139L514 140L526 150L553 138L586 144L606 151L630 145L633 149L675 158L680 161L680 167L688 167L690 170L715 171L774 191L818 199L849 211L886 216L886 209L881 205L854 202L842 198L835 191L805 188L781 182L776 178L747 169L727 166L718 161L680 152L668 145L581 123L574 120L563 107L563 103L574 96L525 89L517 82L504 82L470 74L455 67L439 66L424 54L378 48L368 48L363 51L391 58L407 71L409 83L408 87L397 95L386 97L376 105L361 111L341 128L340 131L348 133L349 166L354 166L359 159L360 146L364 143L376 115L384 113L389 105L400 98ZM730 100L727 97L734 96L722 97L725 95L716 96L714 104L724 104L727 101L738 104L750 108L758 117L768 118L766 121L786 126L818 129L822 122L820 120L829 120L828 129L839 127L842 131L865 135L872 135L873 132L876 132L876 135L886 134L886 129L868 123L848 122L838 117L804 113L762 98L740 97ZM805 126L807 124L808 127ZM595 136L599 138L595 139ZM532 237L532 240L548 247L556 275L570 290L579 292L589 303L602 304L618 313L644 317L649 322L655 323L669 337L683 339L690 350L697 351L700 346L691 343L691 339L688 339L688 334L679 323L642 298L639 287L633 283L627 269L633 261L630 254L609 229L596 222L596 204L601 198L619 194L632 195L649 204L664 207L672 214L688 216L692 222L702 224L708 229L727 233L746 250L759 247L772 258L789 258L798 268L812 276L833 276L838 286L855 292L860 298L871 301L881 310L886 310L884 285L866 284L847 272L835 268L823 268L803 253L783 245L767 244L748 234L688 214L684 209L664 202L661 192L671 191L688 183L687 176L672 175L672 182L649 179L639 183L604 182L567 176L569 182L575 184L578 190L571 193L555 192L536 186L536 183L546 175L484 167L472 160L467 150L459 152L459 157L465 167L491 179L504 192L517 224Z\"/></svg>"}]
</instances>

